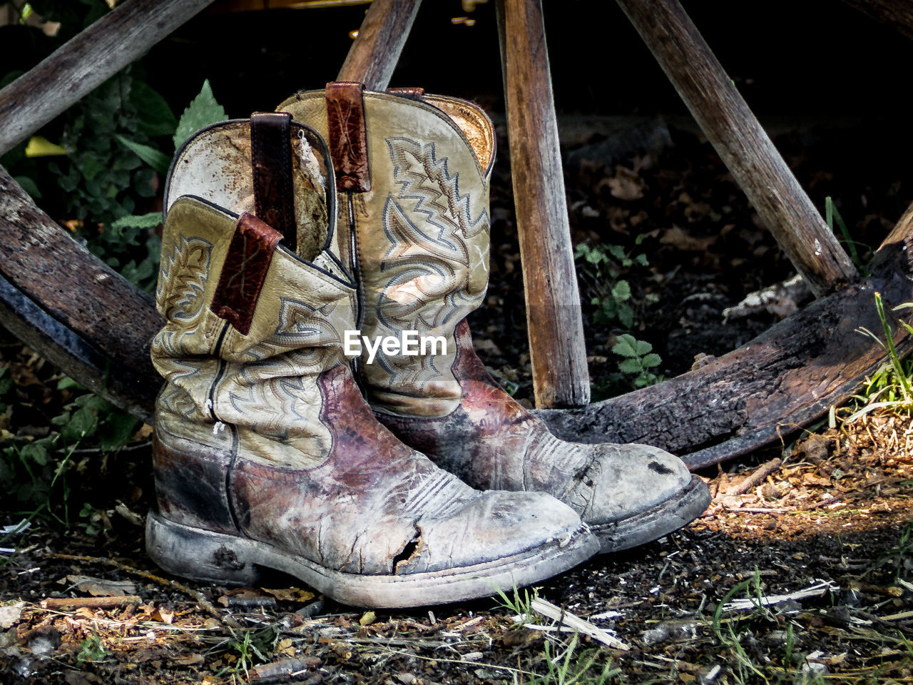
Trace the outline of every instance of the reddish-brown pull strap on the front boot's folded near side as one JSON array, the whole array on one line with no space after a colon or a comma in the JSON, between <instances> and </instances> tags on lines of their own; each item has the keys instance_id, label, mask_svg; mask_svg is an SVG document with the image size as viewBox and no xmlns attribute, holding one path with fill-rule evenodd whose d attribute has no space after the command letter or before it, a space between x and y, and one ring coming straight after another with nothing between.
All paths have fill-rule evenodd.
<instances>
[{"instance_id":1,"label":"reddish-brown pull strap on the front boot's folded near side","mask_svg":"<svg viewBox=\"0 0 913 685\"><path fill-rule=\"evenodd\" d=\"M210 310L242 335L250 332L257 299L282 234L252 214L238 216Z\"/></svg>"}]
</instances>

